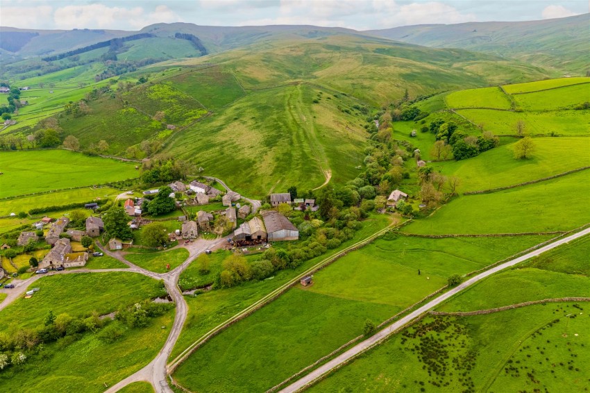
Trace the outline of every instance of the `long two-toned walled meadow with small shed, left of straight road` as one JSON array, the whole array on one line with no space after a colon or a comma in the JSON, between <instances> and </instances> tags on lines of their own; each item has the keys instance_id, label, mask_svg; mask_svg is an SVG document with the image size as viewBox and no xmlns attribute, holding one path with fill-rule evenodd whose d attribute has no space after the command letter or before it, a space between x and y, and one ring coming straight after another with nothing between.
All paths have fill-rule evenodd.
<instances>
[{"instance_id":1,"label":"long two-toned walled meadow with small shed, left of straight road","mask_svg":"<svg viewBox=\"0 0 590 393\"><path fill-rule=\"evenodd\" d=\"M268 389L362 334L366 319L379 323L444 287L451 274L480 269L543 239L385 235L314 274L312 286L292 288L214 337L175 376L190 390Z\"/></svg>"}]
</instances>

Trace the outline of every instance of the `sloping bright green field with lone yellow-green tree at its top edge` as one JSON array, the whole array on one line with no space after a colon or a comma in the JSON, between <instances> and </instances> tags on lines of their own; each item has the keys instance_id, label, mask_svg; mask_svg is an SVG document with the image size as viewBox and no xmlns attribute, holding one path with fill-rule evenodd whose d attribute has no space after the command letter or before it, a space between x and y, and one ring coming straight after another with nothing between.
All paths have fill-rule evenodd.
<instances>
[{"instance_id":1,"label":"sloping bright green field with lone yellow-green tree at its top edge","mask_svg":"<svg viewBox=\"0 0 590 393\"><path fill-rule=\"evenodd\" d=\"M590 166L589 138L538 137L534 144L532 158L527 160L515 160L514 143L510 143L469 160L433 162L431 166L460 178L461 192L506 187Z\"/></svg>"}]
</instances>

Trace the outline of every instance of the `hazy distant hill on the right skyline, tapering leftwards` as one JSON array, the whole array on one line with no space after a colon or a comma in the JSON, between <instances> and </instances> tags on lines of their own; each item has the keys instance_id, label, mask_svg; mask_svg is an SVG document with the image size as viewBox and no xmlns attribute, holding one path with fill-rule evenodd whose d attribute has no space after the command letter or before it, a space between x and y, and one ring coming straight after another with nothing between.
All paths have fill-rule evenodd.
<instances>
[{"instance_id":1,"label":"hazy distant hill on the right skyline, tapering leftwards","mask_svg":"<svg viewBox=\"0 0 590 393\"><path fill-rule=\"evenodd\" d=\"M364 31L434 48L460 48L585 74L590 69L590 14L530 22L424 24Z\"/></svg>"}]
</instances>

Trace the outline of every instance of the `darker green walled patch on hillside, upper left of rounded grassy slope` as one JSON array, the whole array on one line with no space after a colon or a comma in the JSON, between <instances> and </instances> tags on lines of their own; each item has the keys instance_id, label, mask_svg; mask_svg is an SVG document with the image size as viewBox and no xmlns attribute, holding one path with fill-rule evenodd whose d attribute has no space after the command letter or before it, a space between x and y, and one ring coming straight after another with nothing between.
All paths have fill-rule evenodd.
<instances>
[{"instance_id":1,"label":"darker green walled patch on hillside, upper left of rounded grassy slope","mask_svg":"<svg viewBox=\"0 0 590 393\"><path fill-rule=\"evenodd\" d=\"M210 110L222 108L245 95L235 76L219 67L185 72L166 83L189 94Z\"/></svg>"}]
</instances>

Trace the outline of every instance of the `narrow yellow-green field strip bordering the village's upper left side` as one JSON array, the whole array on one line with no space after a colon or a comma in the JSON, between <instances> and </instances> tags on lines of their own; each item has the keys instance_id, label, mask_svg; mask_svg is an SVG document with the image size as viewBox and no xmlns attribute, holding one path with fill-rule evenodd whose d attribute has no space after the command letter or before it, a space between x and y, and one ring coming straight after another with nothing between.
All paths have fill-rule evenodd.
<instances>
[{"instance_id":1,"label":"narrow yellow-green field strip bordering the village's upper left side","mask_svg":"<svg viewBox=\"0 0 590 393\"><path fill-rule=\"evenodd\" d=\"M137 173L137 172L135 172ZM9 215L12 212L28 212L33 208L44 208L47 206L62 206L69 203L83 203L95 199L108 199L121 194L121 190L110 187L101 188L78 188L61 192L51 192L37 196L25 196L23 198L7 199L0 203L0 215ZM49 215L52 213L49 212Z\"/></svg>"}]
</instances>

